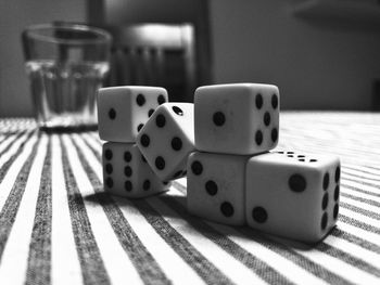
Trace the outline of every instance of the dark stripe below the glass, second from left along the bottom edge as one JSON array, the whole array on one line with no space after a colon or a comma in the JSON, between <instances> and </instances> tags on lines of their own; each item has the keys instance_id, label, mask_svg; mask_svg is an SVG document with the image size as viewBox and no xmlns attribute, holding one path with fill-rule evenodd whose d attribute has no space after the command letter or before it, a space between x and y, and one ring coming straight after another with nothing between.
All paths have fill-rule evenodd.
<instances>
[{"instance_id":1,"label":"dark stripe below the glass, second from left along the bottom edge","mask_svg":"<svg viewBox=\"0 0 380 285\"><path fill-rule=\"evenodd\" d=\"M67 190L69 216L84 283L111 284L61 137L60 144L62 146L62 165Z\"/></svg>"}]
</instances>

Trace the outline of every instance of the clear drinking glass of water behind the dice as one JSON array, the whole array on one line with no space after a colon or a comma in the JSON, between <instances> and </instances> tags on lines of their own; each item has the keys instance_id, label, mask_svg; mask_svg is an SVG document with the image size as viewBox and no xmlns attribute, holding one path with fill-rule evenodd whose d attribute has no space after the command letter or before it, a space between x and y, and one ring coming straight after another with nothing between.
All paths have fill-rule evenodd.
<instances>
[{"instance_id":1,"label":"clear drinking glass of water behind the dice","mask_svg":"<svg viewBox=\"0 0 380 285\"><path fill-rule=\"evenodd\" d=\"M97 91L110 68L110 34L79 24L39 24L27 27L22 40L39 128L96 129Z\"/></svg>"}]
</instances>

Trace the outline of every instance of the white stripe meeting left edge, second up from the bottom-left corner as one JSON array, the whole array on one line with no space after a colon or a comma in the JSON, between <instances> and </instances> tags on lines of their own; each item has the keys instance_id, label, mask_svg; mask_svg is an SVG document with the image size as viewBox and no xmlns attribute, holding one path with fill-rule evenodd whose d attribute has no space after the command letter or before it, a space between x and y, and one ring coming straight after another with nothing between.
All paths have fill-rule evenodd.
<instances>
[{"instance_id":1,"label":"white stripe meeting left edge, second up from the bottom-left corner","mask_svg":"<svg viewBox=\"0 0 380 285\"><path fill-rule=\"evenodd\" d=\"M7 176L4 177L3 181L0 184L0 209L2 209L12 187L13 184L18 176L20 170L24 166L24 163L28 155L31 152L33 144L36 142L37 137L34 135L25 145L23 152L20 154L20 156L13 161L12 166L7 172Z\"/></svg>"}]
</instances>

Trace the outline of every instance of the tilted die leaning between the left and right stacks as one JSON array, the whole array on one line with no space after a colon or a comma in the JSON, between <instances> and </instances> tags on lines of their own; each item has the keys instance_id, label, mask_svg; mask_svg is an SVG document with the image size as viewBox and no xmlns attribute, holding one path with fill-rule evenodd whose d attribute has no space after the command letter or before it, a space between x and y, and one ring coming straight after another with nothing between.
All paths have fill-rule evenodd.
<instances>
[{"instance_id":1,"label":"tilted die leaning between the left and right stacks","mask_svg":"<svg viewBox=\"0 0 380 285\"><path fill-rule=\"evenodd\" d=\"M165 103L137 137L137 145L162 181L186 176L188 155L194 151L191 103Z\"/></svg>"}]
</instances>

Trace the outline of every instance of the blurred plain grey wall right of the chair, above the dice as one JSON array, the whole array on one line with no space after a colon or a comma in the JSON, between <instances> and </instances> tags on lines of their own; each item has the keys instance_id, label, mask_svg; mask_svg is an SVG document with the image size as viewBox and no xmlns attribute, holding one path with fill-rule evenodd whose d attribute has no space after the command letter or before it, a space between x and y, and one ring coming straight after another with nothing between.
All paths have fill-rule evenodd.
<instances>
[{"instance_id":1,"label":"blurred plain grey wall right of the chair, above the dice","mask_svg":"<svg viewBox=\"0 0 380 285\"><path fill-rule=\"evenodd\" d=\"M215 82L276 83L282 108L373 108L379 23L340 18L339 11L335 18L294 17L294 1L210 3Z\"/></svg>"}]
</instances>

